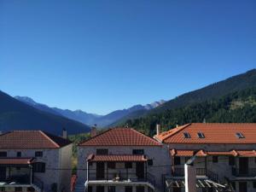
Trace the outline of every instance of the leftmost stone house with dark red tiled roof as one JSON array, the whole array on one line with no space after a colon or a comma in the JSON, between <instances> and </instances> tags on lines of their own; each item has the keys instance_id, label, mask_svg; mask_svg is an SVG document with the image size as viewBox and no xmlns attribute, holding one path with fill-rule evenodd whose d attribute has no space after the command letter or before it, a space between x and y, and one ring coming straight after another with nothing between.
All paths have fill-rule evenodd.
<instances>
[{"instance_id":1,"label":"leftmost stone house with dark red tiled roof","mask_svg":"<svg viewBox=\"0 0 256 192\"><path fill-rule=\"evenodd\" d=\"M70 191L71 156L72 143L63 137L44 131L3 133L0 191Z\"/></svg>"}]
</instances>

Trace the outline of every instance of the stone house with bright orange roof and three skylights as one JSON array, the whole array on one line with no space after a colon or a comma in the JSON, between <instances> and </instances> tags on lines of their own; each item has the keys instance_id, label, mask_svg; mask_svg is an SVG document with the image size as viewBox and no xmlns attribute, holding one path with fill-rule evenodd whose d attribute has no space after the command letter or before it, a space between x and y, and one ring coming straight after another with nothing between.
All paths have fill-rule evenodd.
<instances>
[{"instance_id":1,"label":"stone house with bright orange roof and three skylights","mask_svg":"<svg viewBox=\"0 0 256 192\"><path fill-rule=\"evenodd\" d=\"M184 191L184 163L195 154L198 191L256 191L256 124L188 124L154 136L169 148L166 191Z\"/></svg>"}]
</instances>

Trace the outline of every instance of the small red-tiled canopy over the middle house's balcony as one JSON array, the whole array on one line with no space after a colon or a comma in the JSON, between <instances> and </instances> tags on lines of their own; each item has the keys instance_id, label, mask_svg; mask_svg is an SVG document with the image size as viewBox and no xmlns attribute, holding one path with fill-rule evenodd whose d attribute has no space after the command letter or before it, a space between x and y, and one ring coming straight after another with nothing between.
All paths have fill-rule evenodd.
<instances>
[{"instance_id":1,"label":"small red-tiled canopy over the middle house's balcony","mask_svg":"<svg viewBox=\"0 0 256 192\"><path fill-rule=\"evenodd\" d=\"M143 154L109 154L109 155L95 155L90 154L87 158L88 161L147 161L147 158Z\"/></svg>"}]
</instances>

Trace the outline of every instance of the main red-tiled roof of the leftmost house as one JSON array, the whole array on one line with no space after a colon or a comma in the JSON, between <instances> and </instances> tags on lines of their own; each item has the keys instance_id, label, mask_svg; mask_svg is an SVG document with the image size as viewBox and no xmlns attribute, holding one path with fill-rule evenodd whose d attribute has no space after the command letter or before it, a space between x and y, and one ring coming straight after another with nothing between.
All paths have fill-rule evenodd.
<instances>
[{"instance_id":1,"label":"main red-tiled roof of the leftmost house","mask_svg":"<svg viewBox=\"0 0 256 192\"><path fill-rule=\"evenodd\" d=\"M70 143L44 131L9 131L0 135L0 148L61 148Z\"/></svg>"}]
</instances>

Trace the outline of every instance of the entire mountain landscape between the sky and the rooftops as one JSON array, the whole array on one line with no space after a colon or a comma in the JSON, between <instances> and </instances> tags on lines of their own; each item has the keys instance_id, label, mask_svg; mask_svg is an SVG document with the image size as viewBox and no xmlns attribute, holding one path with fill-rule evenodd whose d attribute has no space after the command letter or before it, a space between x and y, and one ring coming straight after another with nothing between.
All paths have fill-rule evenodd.
<instances>
[{"instance_id":1,"label":"entire mountain landscape between the sky and the rooftops","mask_svg":"<svg viewBox=\"0 0 256 192\"><path fill-rule=\"evenodd\" d=\"M212 122L224 122L225 120L250 122L254 121L253 117L256 116L254 113L254 109L256 110L255 89L256 69L253 69L177 96L168 102L135 105L107 115L85 113L81 110L49 108L45 104L33 101L32 98L26 96L13 98L0 91L0 131L42 129L59 135L65 127L68 133L75 134L89 131L88 125L97 124L101 128L130 125L150 135L154 133L157 123L173 126L201 122L204 117L211 119ZM234 111L234 106L237 105L245 106L244 110L239 108L239 111L236 108ZM241 117L244 117L243 113L249 113L250 117L241 120Z\"/></svg>"}]
</instances>

